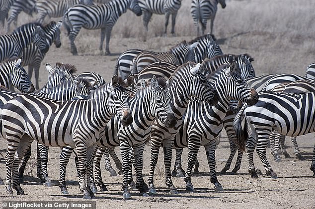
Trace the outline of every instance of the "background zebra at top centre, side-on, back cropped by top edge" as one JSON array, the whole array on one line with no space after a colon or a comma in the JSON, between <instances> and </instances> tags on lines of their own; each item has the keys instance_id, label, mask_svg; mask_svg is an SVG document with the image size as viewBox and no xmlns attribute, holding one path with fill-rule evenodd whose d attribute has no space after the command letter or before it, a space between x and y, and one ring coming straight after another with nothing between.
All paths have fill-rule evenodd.
<instances>
[{"instance_id":1,"label":"background zebra at top centre, side-on, back cropped by top edge","mask_svg":"<svg viewBox=\"0 0 315 209\"><path fill-rule=\"evenodd\" d=\"M181 0L139 0L139 6L143 13L143 25L148 31L148 24L152 14L164 14L165 15L165 27L164 36L167 34L167 25L169 16L172 16L172 28L171 34L175 35L175 20L178 9L181 6Z\"/></svg>"}]
</instances>

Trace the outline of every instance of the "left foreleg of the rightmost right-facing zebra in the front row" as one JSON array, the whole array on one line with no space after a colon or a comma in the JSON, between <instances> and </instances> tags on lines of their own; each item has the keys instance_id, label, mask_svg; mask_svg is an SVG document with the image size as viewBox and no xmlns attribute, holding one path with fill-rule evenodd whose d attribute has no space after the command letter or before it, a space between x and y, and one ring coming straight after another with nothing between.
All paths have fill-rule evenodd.
<instances>
[{"instance_id":1,"label":"left foreleg of the rightmost right-facing zebra in the front row","mask_svg":"<svg viewBox=\"0 0 315 209\"><path fill-rule=\"evenodd\" d=\"M192 139L192 141L200 141L200 139ZM186 182L186 190L190 192L195 192L195 189L191 183L191 172L197 158L199 147L200 143L188 143L188 160L184 181Z\"/></svg>"}]
</instances>

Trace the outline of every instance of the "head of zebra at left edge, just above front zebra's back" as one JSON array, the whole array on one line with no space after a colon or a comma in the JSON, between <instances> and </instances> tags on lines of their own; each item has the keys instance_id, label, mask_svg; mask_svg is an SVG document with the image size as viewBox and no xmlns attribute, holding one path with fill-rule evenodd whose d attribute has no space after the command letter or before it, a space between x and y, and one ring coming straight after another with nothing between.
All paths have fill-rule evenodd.
<instances>
[{"instance_id":1,"label":"head of zebra at left edge, just above front zebra's back","mask_svg":"<svg viewBox=\"0 0 315 209\"><path fill-rule=\"evenodd\" d=\"M23 93L33 92L35 87L25 69L21 66L21 59L14 61L13 66L15 70L13 70L11 84Z\"/></svg>"}]
</instances>

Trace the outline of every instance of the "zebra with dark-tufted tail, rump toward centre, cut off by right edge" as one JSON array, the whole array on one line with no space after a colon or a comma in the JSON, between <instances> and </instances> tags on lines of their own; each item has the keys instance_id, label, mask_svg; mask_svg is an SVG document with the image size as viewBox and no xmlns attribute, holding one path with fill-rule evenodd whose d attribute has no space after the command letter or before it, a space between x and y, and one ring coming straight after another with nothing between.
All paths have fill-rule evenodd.
<instances>
[{"instance_id":1,"label":"zebra with dark-tufted tail, rump toward centre, cut off by right edge","mask_svg":"<svg viewBox=\"0 0 315 209\"><path fill-rule=\"evenodd\" d=\"M251 177L258 177L253 163L253 152L256 152L265 168L266 174L271 178L278 178L272 170L267 157L266 148L272 131L282 135L297 137L315 132L315 93L292 94L279 92L261 92L258 102L250 107L243 105L236 115L234 128L236 139L241 149L246 144L248 172ZM246 107L246 108L245 108ZM244 114L245 127L241 127L241 116ZM250 129L250 136L247 133ZM249 136L249 137L248 137ZM311 165L315 177L315 148Z\"/></svg>"}]
</instances>

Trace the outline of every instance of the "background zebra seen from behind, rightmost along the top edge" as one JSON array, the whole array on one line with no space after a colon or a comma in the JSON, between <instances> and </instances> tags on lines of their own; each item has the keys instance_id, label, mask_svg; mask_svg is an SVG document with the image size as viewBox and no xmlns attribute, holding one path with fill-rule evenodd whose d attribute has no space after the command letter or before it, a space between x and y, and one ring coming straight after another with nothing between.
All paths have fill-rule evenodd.
<instances>
[{"instance_id":1,"label":"background zebra seen from behind, rightmost along the top edge","mask_svg":"<svg viewBox=\"0 0 315 209\"><path fill-rule=\"evenodd\" d=\"M191 16L194 20L197 36L199 35L199 22L201 33L204 34L207 28L207 20L210 19L210 33L213 34L213 22L217 13L218 3L222 8L226 7L225 0L191 0Z\"/></svg>"}]
</instances>

